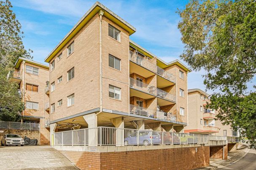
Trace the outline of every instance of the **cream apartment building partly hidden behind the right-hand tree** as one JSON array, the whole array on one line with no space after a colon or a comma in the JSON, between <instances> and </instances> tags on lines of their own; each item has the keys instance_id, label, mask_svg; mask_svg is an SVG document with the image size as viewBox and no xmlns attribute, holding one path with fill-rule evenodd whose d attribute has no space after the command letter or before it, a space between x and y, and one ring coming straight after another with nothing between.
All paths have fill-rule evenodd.
<instances>
[{"instance_id":1,"label":"cream apartment building partly hidden behind the right-hand tree","mask_svg":"<svg viewBox=\"0 0 256 170\"><path fill-rule=\"evenodd\" d=\"M220 120L214 120L218 110L207 108L209 94L201 89L189 89L189 124L186 133L211 134L215 136L239 136L231 126L222 125Z\"/></svg>"}]
</instances>

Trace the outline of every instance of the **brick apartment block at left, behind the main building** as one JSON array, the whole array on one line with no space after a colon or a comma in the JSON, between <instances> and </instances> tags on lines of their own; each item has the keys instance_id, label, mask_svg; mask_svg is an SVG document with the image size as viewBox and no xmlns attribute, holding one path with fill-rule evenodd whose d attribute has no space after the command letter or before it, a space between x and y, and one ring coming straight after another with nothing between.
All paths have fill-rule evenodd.
<instances>
[{"instance_id":1,"label":"brick apartment block at left, behind the main building","mask_svg":"<svg viewBox=\"0 0 256 170\"><path fill-rule=\"evenodd\" d=\"M11 77L11 81L16 81L19 84L19 94L25 105L25 109L21 113L21 121L23 123L40 123L38 144L47 145L50 132L49 126L46 128L49 114L45 112L45 104L49 102L49 97L45 94L45 84L49 81L49 66L20 57L14 68L15 70L9 73L8 77ZM38 124L30 125L37 126ZM32 128L39 129L38 127Z\"/></svg>"}]
</instances>

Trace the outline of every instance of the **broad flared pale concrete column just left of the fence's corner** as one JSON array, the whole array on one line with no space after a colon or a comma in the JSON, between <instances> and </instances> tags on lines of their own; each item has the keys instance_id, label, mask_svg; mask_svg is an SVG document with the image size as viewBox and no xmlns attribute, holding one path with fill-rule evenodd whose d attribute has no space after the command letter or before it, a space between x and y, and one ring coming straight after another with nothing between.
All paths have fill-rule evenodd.
<instances>
[{"instance_id":1,"label":"broad flared pale concrete column just left of the fence's corner","mask_svg":"<svg viewBox=\"0 0 256 170\"><path fill-rule=\"evenodd\" d=\"M98 145L98 131L97 131L97 115L91 113L84 115L84 120L88 124L88 145L97 146Z\"/></svg>"}]
</instances>

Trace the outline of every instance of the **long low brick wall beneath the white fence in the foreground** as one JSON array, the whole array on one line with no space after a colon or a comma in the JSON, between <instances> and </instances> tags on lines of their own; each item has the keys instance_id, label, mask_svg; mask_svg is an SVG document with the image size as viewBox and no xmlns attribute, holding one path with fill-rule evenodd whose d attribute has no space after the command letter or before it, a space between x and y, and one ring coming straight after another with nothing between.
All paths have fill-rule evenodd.
<instances>
[{"instance_id":1,"label":"long low brick wall beneath the white fence in the foreground","mask_svg":"<svg viewBox=\"0 0 256 170\"><path fill-rule=\"evenodd\" d=\"M61 151L81 170L191 170L209 165L209 146L128 152Z\"/></svg>"}]
</instances>

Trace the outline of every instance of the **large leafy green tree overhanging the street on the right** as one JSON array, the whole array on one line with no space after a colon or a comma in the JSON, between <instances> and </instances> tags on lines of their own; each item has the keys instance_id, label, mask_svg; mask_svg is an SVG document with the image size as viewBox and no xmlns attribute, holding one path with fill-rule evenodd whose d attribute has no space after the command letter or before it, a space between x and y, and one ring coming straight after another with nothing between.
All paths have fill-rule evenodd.
<instances>
[{"instance_id":1,"label":"large leafy green tree overhanging the street on the right","mask_svg":"<svg viewBox=\"0 0 256 170\"><path fill-rule=\"evenodd\" d=\"M178 10L185 44L180 57L192 70L205 70L204 84L214 91L209 107L251 144L256 144L256 92L247 84L256 74L255 11L255 0L191 0Z\"/></svg>"}]
</instances>

